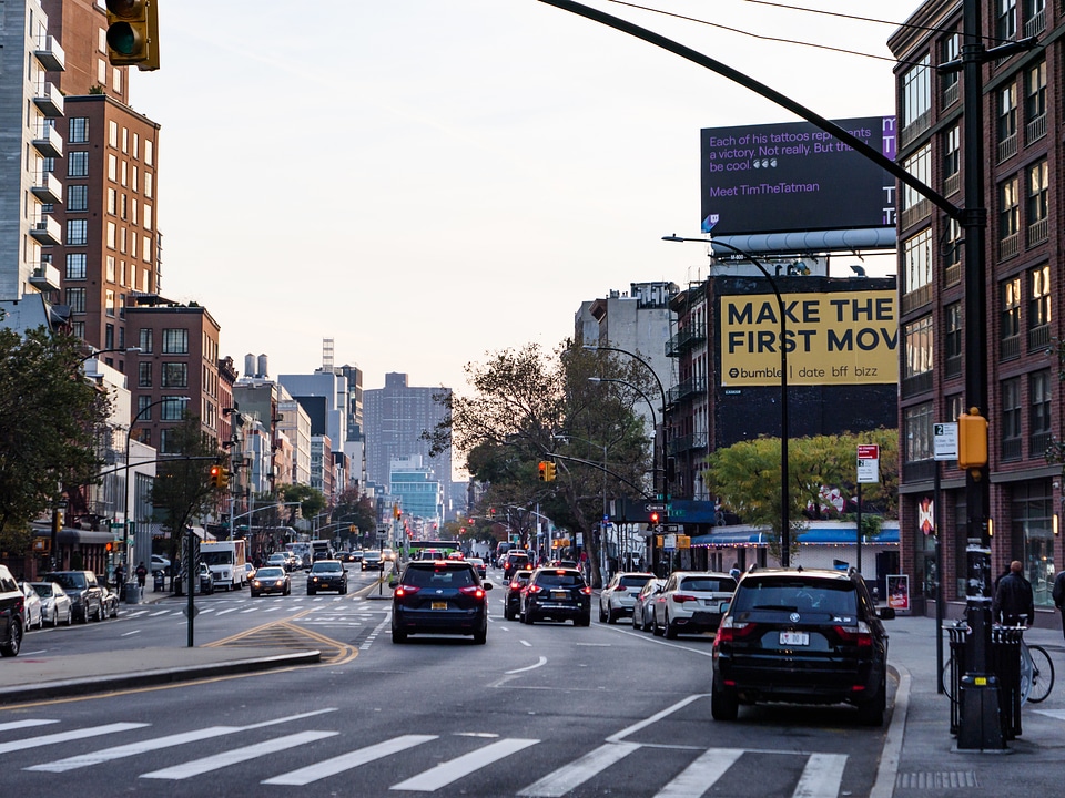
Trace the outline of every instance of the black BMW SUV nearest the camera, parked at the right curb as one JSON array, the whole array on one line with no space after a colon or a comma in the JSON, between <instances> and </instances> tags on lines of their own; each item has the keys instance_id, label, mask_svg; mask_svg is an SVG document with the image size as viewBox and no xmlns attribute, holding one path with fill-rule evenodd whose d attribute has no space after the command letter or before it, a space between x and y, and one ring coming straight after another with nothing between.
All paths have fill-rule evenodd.
<instances>
[{"instance_id":1,"label":"black BMW SUV nearest the camera, parked at the right curb","mask_svg":"<svg viewBox=\"0 0 1065 798\"><path fill-rule=\"evenodd\" d=\"M881 726L888 707L888 635L856 572L768 570L743 576L713 641L714 720L755 702L853 704Z\"/></svg>"}]
</instances>

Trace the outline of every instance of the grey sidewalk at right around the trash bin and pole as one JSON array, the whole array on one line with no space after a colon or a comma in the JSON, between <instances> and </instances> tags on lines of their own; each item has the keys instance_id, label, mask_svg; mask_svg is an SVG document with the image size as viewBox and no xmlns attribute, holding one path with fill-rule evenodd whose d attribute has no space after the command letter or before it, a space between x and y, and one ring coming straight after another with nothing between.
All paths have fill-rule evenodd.
<instances>
[{"instance_id":1,"label":"grey sidewalk at right around the trash bin and pole","mask_svg":"<svg viewBox=\"0 0 1065 798\"><path fill-rule=\"evenodd\" d=\"M974 789L1002 795L1057 794L1065 778L1061 745L1065 733L1065 684L1042 704L1021 709L1022 733L1004 750L960 751L951 735L951 707L936 692L936 624L929 617L896 617L884 624L890 635L888 659L897 678L894 709L873 798L904 797L914 790L943 795ZM943 643L943 659L950 646ZM1028 644L1047 649L1058 678L1065 678L1065 644L1056 630L1025 632ZM920 792L917 792L920 794Z\"/></svg>"}]
</instances>

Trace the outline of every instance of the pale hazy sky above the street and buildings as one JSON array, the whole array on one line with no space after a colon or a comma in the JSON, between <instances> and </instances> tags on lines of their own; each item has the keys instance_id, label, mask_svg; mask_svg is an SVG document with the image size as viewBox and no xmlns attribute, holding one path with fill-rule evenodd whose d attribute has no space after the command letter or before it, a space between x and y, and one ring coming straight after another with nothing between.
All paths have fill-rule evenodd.
<instances>
[{"instance_id":1,"label":"pale hazy sky above the street and buildings","mask_svg":"<svg viewBox=\"0 0 1065 798\"><path fill-rule=\"evenodd\" d=\"M750 0L586 4L829 119L894 112L891 24ZM903 22L916 0L792 0ZM691 18L679 19L678 16ZM713 25L706 24L712 22ZM733 28L736 31L722 27ZM798 121L674 54L537 0L161 3L161 293L271 376L358 365L465 387L465 366L574 334L584 300L707 276L699 131ZM885 258L870 274L893 274Z\"/></svg>"}]
</instances>

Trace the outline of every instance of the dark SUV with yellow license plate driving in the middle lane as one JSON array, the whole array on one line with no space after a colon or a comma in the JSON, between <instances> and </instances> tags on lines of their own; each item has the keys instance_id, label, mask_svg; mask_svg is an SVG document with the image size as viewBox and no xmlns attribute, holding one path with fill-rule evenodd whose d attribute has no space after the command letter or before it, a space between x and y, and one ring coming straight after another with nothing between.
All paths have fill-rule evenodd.
<instances>
[{"instance_id":1,"label":"dark SUV with yellow license plate driving in the middle lane","mask_svg":"<svg viewBox=\"0 0 1065 798\"><path fill-rule=\"evenodd\" d=\"M392 642L432 634L473 635L474 643L488 640L490 582L481 583L474 566L464 560L414 560L403 570L392 598Z\"/></svg>"}]
</instances>

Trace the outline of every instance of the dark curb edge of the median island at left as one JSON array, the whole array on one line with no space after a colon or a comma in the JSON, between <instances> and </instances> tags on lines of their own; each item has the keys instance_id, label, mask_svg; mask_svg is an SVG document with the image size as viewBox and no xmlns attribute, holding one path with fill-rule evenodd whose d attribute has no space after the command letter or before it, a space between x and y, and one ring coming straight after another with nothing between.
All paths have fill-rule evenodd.
<instances>
[{"instance_id":1,"label":"dark curb edge of the median island at left","mask_svg":"<svg viewBox=\"0 0 1065 798\"><path fill-rule=\"evenodd\" d=\"M233 674L256 673L295 665L314 665L322 659L322 652L302 651L292 654L277 654L252 659L205 663L203 665L183 665L180 667L139 671L128 674L104 674L83 678L44 682L36 685L19 685L0 688L0 705L22 704L47 698L67 698L71 696L109 693L132 687L193 682L211 676L231 676Z\"/></svg>"}]
</instances>

